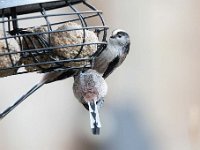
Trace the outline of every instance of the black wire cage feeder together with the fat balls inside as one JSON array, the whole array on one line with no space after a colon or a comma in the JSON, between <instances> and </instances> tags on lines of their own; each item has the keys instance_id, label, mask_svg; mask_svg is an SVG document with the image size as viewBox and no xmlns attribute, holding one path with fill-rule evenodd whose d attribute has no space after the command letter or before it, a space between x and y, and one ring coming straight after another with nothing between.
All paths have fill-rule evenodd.
<instances>
[{"instance_id":1,"label":"black wire cage feeder together with the fat balls inside","mask_svg":"<svg viewBox=\"0 0 200 150\"><path fill-rule=\"evenodd\" d=\"M73 27L61 28L66 24ZM107 29L102 11L86 0L0 1L0 77L91 68L106 45ZM67 34L59 33L69 32L75 34L66 43L60 43ZM98 40L88 40L91 33ZM55 35L57 38L52 38ZM79 42L73 42L77 40L73 36ZM91 53L81 55L91 47ZM67 49L67 56L74 49L78 51L69 57L55 54L62 53L62 49Z\"/></svg>"}]
</instances>

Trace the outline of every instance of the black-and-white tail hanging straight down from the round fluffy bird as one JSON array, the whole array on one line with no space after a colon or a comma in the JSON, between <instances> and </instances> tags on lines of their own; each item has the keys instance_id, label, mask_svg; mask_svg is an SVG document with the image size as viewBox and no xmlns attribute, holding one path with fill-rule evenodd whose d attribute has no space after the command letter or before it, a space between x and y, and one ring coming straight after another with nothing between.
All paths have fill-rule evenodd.
<instances>
[{"instance_id":1,"label":"black-and-white tail hanging straight down from the round fluffy bird","mask_svg":"<svg viewBox=\"0 0 200 150\"><path fill-rule=\"evenodd\" d=\"M95 102L88 102L89 113L90 113L90 127L94 135L100 134L101 122L99 112Z\"/></svg>"}]
</instances>

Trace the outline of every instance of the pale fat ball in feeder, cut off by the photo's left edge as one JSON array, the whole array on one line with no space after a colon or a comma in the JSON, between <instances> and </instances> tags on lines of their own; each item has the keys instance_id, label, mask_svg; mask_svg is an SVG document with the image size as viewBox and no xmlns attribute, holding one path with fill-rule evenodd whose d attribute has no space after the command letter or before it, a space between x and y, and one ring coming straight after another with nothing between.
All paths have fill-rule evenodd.
<instances>
[{"instance_id":1,"label":"pale fat ball in feeder, cut off by the photo's left edge","mask_svg":"<svg viewBox=\"0 0 200 150\"><path fill-rule=\"evenodd\" d=\"M6 33L6 37L10 34ZM0 38L4 38L3 31L0 30ZM8 44L8 45L7 45ZM0 77L6 77L17 73L17 68L1 70L3 68L14 67L20 60L20 53L6 54L9 52L20 52L20 47L14 38L8 38L6 44L6 39L0 40Z\"/></svg>"}]
</instances>

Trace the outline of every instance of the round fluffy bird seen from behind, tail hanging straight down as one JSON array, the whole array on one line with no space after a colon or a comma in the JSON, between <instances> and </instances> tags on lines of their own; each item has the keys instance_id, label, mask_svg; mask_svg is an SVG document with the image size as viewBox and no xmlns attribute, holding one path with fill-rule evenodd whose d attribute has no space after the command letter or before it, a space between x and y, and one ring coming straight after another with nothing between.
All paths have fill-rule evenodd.
<instances>
[{"instance_id":1,"label":"round fluffy bird seen from behind, tail hanging straight down","mask_svg":"<svg viewBox=\"0 0 200 150\"><path fill-rule=\"evenodd\" d=\"M73 91L75 97L84 105L88 105L90 126L93 134L100 133L101 122L98 109L107 94L107 84L95 70L89 69L74 76Z\"/></svg>"}]
</instances>

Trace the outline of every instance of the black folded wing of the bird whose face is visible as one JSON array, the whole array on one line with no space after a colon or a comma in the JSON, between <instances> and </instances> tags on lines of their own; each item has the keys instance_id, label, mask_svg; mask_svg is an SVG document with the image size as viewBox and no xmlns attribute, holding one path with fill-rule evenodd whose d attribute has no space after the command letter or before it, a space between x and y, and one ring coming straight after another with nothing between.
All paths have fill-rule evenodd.
<instances>
[{"instance_id":1,"label":"black folded wing of the bird whose face is visible","mask_svg":"<svg viewBox=\"0 0 200 150\"><path fill-rule=\"evenodd\" d=\"M107 78L107 77L113 72L113 70L118 66L119 60L120 60L120 57L117 56L115 59L113 59L113 60L109 63L109 65L108 65L106 71L105 71L104 74L103 74L103 78L104 78L104 79Z\"/></svg>"}]
</instances>

